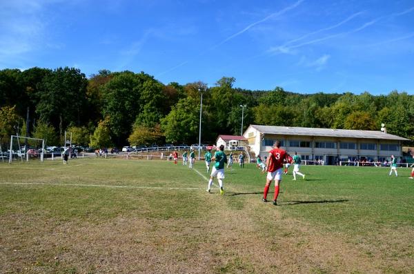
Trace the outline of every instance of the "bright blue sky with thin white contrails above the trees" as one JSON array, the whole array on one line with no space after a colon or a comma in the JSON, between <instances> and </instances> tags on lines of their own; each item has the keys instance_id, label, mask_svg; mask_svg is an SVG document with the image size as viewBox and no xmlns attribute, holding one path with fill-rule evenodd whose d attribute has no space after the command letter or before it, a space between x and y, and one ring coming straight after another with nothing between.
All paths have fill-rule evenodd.
<instances>
[{"instance_id":1,"label":"bright blue sky with thin white contrails above the trees","mask_svg":"<svg viewBox=\"0 0 414 274\"><path fill-rule=\"evenodd\" d=\"M0 0L0 69L414 94L414 1Z\"/></svg>"}]
</instances>

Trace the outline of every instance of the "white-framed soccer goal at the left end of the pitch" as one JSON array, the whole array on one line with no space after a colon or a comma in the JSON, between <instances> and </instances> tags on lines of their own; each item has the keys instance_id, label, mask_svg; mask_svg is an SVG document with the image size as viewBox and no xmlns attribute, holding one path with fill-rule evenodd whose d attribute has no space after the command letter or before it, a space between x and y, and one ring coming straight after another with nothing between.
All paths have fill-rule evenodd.
<instances>
[{"instance_id":1,"label":"white-framed soccer goal at the left end of the pitch","mask_svg":"<svg viewBox=\"0 0 414 274\"><path fill-rule=\"evenodd\" d=\"M12 135L10 138L9 163L38 160L43 162L45 140Z\"/></svg>"}]
</instances>

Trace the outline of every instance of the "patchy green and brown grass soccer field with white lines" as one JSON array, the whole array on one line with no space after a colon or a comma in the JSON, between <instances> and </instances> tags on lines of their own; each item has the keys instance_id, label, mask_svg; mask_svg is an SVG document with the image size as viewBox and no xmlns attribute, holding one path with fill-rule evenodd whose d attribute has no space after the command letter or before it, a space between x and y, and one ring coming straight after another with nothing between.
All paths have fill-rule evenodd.
<instances>
[{"instance_id":1,"label":"patchy green and brown grass soccer field with white lines","mask_svg":"<svg viewBox=\"0 0 414 274\"><path fill-rule=\"evenodd\" d=\"M254 164L0 164L0 273L414 273L410 169L301 171L273 206Z\"/></svg>"}]
</instances>

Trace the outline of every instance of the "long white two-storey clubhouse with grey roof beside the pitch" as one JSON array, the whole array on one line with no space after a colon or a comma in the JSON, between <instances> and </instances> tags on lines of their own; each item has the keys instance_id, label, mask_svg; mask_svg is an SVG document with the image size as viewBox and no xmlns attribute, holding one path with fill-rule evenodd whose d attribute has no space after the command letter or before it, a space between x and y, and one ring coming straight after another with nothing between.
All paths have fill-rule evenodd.
<instances>
[{"instance_id":1,"label":"long white two-storey clubhouse with grey roof beside the pitch","mask_svg":"<svg viewBox=\"0 0 414 274\"><path fill-rule=\"evenodd\" d=\"M332 165L348 159L384 162L402 157L402 141L409 139L375 130L297 128L250 125L243 135L253 155L267 155L275 140L289 154L297 152L304 160L322 160Z\"/></svg>"}]
</instances>

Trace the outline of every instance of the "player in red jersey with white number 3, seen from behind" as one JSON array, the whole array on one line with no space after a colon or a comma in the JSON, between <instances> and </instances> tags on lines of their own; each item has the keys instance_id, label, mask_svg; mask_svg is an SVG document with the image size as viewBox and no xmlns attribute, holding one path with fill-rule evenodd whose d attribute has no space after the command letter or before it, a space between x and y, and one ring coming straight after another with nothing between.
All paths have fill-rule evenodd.
<instances>
[{"instance_id":1,"label":"player in red jersey with white number 3, seen from behind","mask_svg":"<svg viewBox=\"0 0 414 274\"><path fill-rule=\"evenodd\" d=\"M277 206L277 196L279 195L279 183L282 181L283 164L287 162L286 151L280 148L280 141L275 141L273 150L270 150L268 159L266 161L267 176L266 186L264 186L263 202L268 202L266 197L269 191L270 184L275 180L275 197L273 204Z\"/></svg>"}]
</instances>

